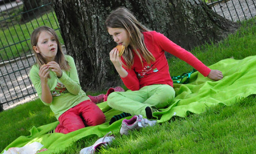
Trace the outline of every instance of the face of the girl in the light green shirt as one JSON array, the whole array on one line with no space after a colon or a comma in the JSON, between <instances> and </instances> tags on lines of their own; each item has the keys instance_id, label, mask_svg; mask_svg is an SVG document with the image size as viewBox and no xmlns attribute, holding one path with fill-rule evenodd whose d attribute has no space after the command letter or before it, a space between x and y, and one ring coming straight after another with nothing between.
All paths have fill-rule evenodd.
<instances>
[{"instance_id":1,"label":"face of the girl in the light green shirt","mask_svg":"<svg viewBox=\"0 0 256 154\"><path fill-rule=\"evenodd\" d=\"M39 34L37 46L33 46L33 49L40 53L48 63L54 60L58 51L58 45L53 34L43 31Z\"/></svg>"}]
</instances>

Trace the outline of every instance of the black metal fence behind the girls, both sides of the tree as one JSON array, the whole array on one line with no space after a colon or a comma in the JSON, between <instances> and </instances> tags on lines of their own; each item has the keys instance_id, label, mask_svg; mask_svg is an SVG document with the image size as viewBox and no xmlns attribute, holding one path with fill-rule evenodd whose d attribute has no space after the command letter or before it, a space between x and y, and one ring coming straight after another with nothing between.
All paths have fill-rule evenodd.
<instances>
[{"instance_id":1,"label":"black metal fence behind the girls, both sides of the tree","mask_svg":"<svg viewBox=\"0 0 256 154\"><path fill-rule=\"evenodd\" d=\"M0 107L8 109L36 97L28 74L35 63L30 34L39 26L59 33L58 21L48 0L0 0ZM231 21L256 15L254 0L206 1L216 13ZM59 35L59 38L61 36Z\"/></svg>"}]
</instances>

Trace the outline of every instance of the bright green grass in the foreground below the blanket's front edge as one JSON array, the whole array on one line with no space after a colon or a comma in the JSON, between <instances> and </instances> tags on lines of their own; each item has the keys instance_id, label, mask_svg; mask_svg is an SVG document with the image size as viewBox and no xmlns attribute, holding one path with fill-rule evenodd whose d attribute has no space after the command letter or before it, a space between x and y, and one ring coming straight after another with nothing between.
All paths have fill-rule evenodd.
<instances>
[{"instance_id":1,"label":"bright green grass in the foreground below the blanket's front edge","mask_svg":"<svg viewBox=\"0 0 256 154\"><path fill-rule=\"evenodd\" d=\"M154 127L134 130L116 139L102 154L229 154L256 150L256 98L237 100L232 106L216 106ZM79 154L97 137L81 139L55 154Z\"/></svg>"}]
</instances>

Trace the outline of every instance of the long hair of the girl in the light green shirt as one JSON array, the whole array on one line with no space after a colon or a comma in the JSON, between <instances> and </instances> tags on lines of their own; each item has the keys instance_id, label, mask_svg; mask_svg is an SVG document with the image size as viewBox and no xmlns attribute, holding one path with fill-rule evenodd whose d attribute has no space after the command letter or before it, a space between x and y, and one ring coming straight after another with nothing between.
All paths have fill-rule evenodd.
<instances>
[{"instance_id":1,"label":"long hair of the girl in the light green shirt","mask_svg":"<svg viewBox=\"0 0 256 154\"><path fill-rule=\"evenodd\" d=\"M40 26L37 29L35 29L32 34L31 34L31 46L33 48L33 46L37 46L37 42L38 42L38 38L41 32L49 32L50 34L52 34L57 42L58 45L58 50L57 50L57 54L54 58L54 61L56 63L59 64L61 70L65 70L65 71L69 71L70 70L70 66L68 64L68 62L65 59L65 56L62 52L62 48L61 45L59 43L59 39L57 36L57 33L50 27L47 26ZM34 51L34 50L33 50ZM41 53L37 53L36 51L34 51L35 57L36 57L36 61L39 65L39 68L43 65L46 64L46 60L44 59L44 57L41 55Z\"/></svg>"}]
</instances>

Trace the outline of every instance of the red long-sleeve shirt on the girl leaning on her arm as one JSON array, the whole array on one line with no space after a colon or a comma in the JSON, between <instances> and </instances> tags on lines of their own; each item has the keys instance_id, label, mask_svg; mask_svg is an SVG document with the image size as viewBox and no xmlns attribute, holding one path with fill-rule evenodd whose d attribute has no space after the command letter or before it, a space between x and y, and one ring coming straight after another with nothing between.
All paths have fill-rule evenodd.
<instances>
[{"instance_id":1,"label":"red long-sleeve shirt on the girl leaning on her arm","mask_svg":"<svg viewBox=\"0 0 256 154\"><path fill-rule=\"evenodd\" d=\"M169 65L164 55L164 51L171 53L190 64L197 71L203 74L204 77L210 73L210 68L204 65L189 51L173 43L170 39L166 38L163 34L155 31L142 32L144 35L144 43L147 49L156 58L156 61L147 64L142 57L143 65L137 54L134 52L134 64L131 69L123 68L128 72L126 77L121 77L125 86L130 90L139 90L140 88L152 84L169 84L173 87L171 80ZM123 57L121 60L124 64Z\"/></svg>"}]
</instances>

